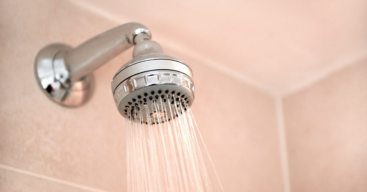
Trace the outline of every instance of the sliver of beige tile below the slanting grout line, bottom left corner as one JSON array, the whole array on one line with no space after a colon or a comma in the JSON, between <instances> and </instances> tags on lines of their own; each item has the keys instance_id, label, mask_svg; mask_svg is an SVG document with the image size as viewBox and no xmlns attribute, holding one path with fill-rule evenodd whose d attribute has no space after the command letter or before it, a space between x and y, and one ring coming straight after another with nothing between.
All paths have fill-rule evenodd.
<instances>
[{"instance_id":1,"label":"sliver of beige tile below the slanting grout line, bottom left corner","mask_svg":"<svg viewBox=\"0 0 367 192\"><path fill-rule=\"evenodd\" d=\"M0 191L87 191L0 168Z\"/></svg>"}]
</instances>

